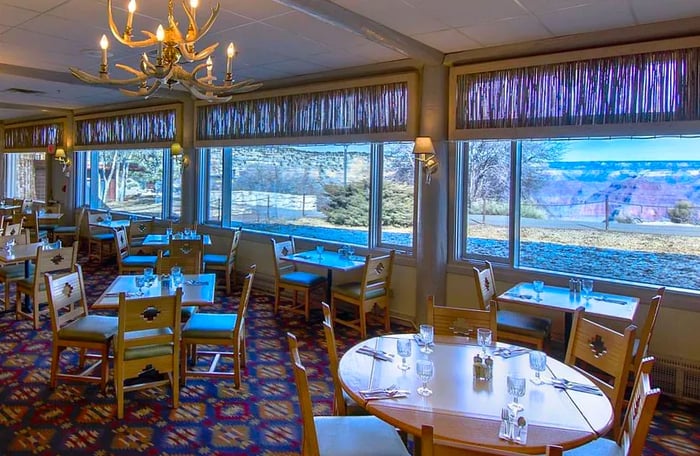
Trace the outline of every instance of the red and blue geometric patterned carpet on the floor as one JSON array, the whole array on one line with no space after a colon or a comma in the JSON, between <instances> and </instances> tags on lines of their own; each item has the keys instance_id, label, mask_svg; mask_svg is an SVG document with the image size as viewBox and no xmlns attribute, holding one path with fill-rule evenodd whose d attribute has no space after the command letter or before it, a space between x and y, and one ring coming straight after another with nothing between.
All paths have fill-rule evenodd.
<instances>
[{"instance_id":1,"label":"red and blue geometric patterned carpet on the floor","mask_svg":"<svg viewBox=\"0 0 700 456\"><path fill-rule=\"evenodd\" d=\"M84 264L92 302L116 275L112 265ZM0 287L1 288L1 287ZM13 289L14 290L14 289ZM233 311L237 297L218 292L217 309ZM267 455L299 454L301 420L285 335L299 338L315 413L331 413L331 378L320 311L275 317L272 297L254 293L248 314L248 367L240 390L232 382L189 379L180 407L167 389L127 393L125 419L116 420L114 390L80 383L48 387L51 332L14 314L0 315L0 455ZM396 328L401 330L402 328ZM342 352L357 335L337 329ZM644 455L700 454L700 406L662 397Z\"/></svg>"}]
</instances>

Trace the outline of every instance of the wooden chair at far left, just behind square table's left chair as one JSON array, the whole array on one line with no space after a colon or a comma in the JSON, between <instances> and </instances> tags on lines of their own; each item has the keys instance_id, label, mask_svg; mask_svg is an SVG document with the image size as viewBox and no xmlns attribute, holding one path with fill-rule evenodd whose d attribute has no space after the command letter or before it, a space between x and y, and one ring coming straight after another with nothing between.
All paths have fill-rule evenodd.
<instances>
[{"instance_id":1,"label":"wooden chair at far left, just behind square table's left chair","mask_svg":"<svg viewBox=\"0 0 700 456\"><path fill-rule=\"evenodd\" d=\"M39 249L34 260L34 275L18 280L16 317L33 320L34 329L39 329L40 305L48 303L45 274L61 274L75 271L78 259L78 246L62 247L56 250ZM27 295L32 301L31 311L23 309L22 295Z\"/></svg>"}]
</instances>

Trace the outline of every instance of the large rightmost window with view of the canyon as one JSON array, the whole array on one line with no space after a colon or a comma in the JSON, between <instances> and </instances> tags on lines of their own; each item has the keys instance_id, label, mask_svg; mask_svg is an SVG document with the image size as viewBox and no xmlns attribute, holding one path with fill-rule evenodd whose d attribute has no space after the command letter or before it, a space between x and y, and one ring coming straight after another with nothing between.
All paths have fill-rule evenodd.
<instances>
[{"instance_id":1,"label":"large rightmost window with view of the canyon","mask_svg":"<svg viewBox=\"0 0 700 456\"><path fill-rule=\"evenodd\" d=\"M700 290L698 147L690 137L464 143L462 255Z\"/></svg>"}]
</instances>

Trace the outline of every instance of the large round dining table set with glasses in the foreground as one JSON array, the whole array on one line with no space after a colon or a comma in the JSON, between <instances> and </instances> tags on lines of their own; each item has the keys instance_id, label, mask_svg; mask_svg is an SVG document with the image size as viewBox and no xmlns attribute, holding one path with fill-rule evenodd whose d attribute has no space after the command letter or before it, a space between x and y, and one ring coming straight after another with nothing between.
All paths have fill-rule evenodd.
<instances>
[{"instance_id":1,"label":"large round dining table set with glasses in the foreground","mask_svg":"<svg viewBox=\"0 0 700 456\"><path fill-rule=\"evenodd\" d=\"M411 356L407 357L410 369L406 371L399 369L398 338L411 339ZM414 436L420 437L421 426L429 424L440 440L525 454L543 454L547 445L577 447L605 435L612 427L613 409L607 397L556 388L552 379L594 385L575 369L547 357L547 368L541 375L546 383L536 385L528 380L525 395L519 400L524 409L518 416L527 423L525 441L501 438L502 410L513 400L508 394L507 376L534 378L528 350L506 351L505 355L511 355L506 357L498 353L503 348L517 347L502 343L487 347L486 354L493 359L493 375L491 380L479 380L474 378L474 356L482 349L476 340L436 336L432 353L422 353L420 348L412 334L385 335L358 343L340 360L338 373L343 389L371 414ZM417 393L422 384L416 374L419 359L434 364L434 376L428 382L433 393L428 397ZM361 393L388 387L407 394L367 399Z\"/></svg>"}]
</instances>

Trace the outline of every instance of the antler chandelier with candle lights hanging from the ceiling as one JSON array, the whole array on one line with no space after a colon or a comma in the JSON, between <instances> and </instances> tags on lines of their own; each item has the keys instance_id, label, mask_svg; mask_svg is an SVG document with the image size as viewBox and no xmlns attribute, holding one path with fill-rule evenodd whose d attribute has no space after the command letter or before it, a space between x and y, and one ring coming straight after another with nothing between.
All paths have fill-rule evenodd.
<instances>
[{"instance_id":1,"label":"antler chandelier with candle lights hanging from the ceiling","mask_svg":"<svg viewBox=\"0 0 700 456\"><path fill-rule=\"evenodd\" d=\"M73 76L88 84L136 86L136 90L119 89L125 95L132 97L148 98L164 84L170 88L177 83L186 87L195 97L207 101L227 101L233 94L250 92L259 88L262 83L254 82L251 79L234 82L231 73L231 62L236 50L233 43L230 43L226 50L226 76L224 81L220 85L214 84L216 77L212 75L214 64L211 59L211 54L217 46L219 46L219 43L214 43L201 51L195 50L195 43L211 29L211 26L214 24L219 14L220 5L217 3L216 6L212 8L209 19L202 27L198 27L195 19L198 0L190 0L189 3L190 5L188 7L185 4L185 0L182 1L182 7L189 21L189 26L187 27L187 32L184 37L173 15L173 1L168 0L167 28L163 28L162 25L159 25L155 34L148 30L143 30L142 33L146 35L146 39L134 41L132 39L132 23L134 12L136 11L136 1L129 1L129 14L127 16L126 26L124 27L124 33L120 34L119 29L114 23L114 17L112 16L112 0L107 0L107 18L109 19L109 28L112 31L112 35L114 35L121 44L130 48L157 46L155 63L152 63L144 52L138 69L128 65L122 65L121 63L115 65L116 68L129 72L133 74L134 77L127 79L111 78L107 71L107 48L109 47L109 42L107 41L107 37L102 35L102 39L100 40L102 62L100 64L99 76L94 76L78 68L70 68L70 72L73 73ZM202 62L205 59L205 62L199 63L191 71L187 71L180 64L181 60L187 62ZM202 75L198 77L198 73L200 71L203 72L205 69L206 76Z\"/></svg>"}]
</instances>

